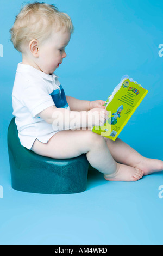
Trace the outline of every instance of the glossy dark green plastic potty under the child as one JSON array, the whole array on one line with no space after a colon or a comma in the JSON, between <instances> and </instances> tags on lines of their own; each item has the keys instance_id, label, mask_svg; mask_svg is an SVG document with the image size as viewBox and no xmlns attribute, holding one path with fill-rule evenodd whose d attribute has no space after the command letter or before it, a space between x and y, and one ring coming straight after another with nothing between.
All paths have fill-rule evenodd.
<instances>
[{"instance_id":1,"label":"glossy dark green plastic potty under the child","mask_svg":"<svg viewBox=\"0 0 163 256\"><path fill-rule=\"evenodd\" d=\"M41 194L80 193L86 189L89 162L86 154L52 159L23 147L15 117L8 127L8 154L12 188Z\"/></svg>"}]
</instances>

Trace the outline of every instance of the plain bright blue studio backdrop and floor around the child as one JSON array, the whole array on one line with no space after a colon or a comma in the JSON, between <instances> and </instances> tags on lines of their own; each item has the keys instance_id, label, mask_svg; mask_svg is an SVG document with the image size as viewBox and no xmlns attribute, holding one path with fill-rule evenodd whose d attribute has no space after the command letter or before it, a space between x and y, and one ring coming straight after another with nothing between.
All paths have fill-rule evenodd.
<instances>
[{"instance_id":1,"label":"plain bright blue studio backdrop and floor around the child","mask_svg":"<svg viewBox=\"0 0 163 256\"><path fill-rule=\"evenodd\" d=\"M29 2L29 1L28 1ZM160 0L55 0L75 31L55 71L66 95L106 100L124 74L149 90L119 136L146 157L163 160L163 4ZM43 195L11 188L7 129L18 53L9 29L21 0L0 0L1 245L162 245L162 172L137 182L108 182L89 172L83 193Z\"/></svg>"}]
</instances>

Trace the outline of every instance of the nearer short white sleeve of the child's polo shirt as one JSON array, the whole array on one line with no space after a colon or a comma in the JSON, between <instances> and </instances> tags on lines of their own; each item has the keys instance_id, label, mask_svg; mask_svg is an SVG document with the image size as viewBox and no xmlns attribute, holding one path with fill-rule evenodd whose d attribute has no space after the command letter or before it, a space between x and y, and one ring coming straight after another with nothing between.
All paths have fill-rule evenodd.
<instances>
[{"instance_id":1,"label":"nearer short white sleeve of the child's polo shirt","mask_svg":"<svg viewBox=\"0 0 163 256\"><path fill-rule=\"evenodd\" d=\"M46 83L29 83L23 90L23 105L32 113L33 118L44 109L55 106L52 96L48 93Z\"/></svg>"}]
</instances>

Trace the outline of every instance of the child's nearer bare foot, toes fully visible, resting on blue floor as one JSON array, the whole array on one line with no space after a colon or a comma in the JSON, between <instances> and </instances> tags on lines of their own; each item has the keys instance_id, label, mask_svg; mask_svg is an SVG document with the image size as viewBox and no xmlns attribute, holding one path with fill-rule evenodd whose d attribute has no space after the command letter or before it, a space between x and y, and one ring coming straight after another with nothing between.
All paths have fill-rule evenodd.
<instances>
[{"instance_id":1,"label":"child's nearer bare foot, toes fully visible, resting on blue floor","mask_svg":"<svg viewBox=\"0 0 163 256\"><path fill-rule=\"evenodd\" d=\"M143 171L139 168L126 166L125 164L117 163L117 170L114 174L104 174L105 180L109 181L137 181L143 176Z\"/></svg>"}]
</instances>

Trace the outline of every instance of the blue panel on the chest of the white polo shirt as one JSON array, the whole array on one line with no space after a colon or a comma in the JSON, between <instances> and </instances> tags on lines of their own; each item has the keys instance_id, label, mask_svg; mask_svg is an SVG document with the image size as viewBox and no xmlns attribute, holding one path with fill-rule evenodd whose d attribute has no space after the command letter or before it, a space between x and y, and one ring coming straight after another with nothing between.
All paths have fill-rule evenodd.
<instances>
[{"instance_id":1,"label":"blue panel on the chest of the white polo shirt","mask_svg":"<svg viewBox=\"0 0 163 256\"><path fill-rule=\"evenodd\" d=\"M64 89L62 88L61 84L59 87L60 87L60 92L59 92L59 89L56 89L56 90L53 90L52 93L50 93L54 101L55 107L68 108L68 103L66 100Z\"/></svg>"}]
</instances>

